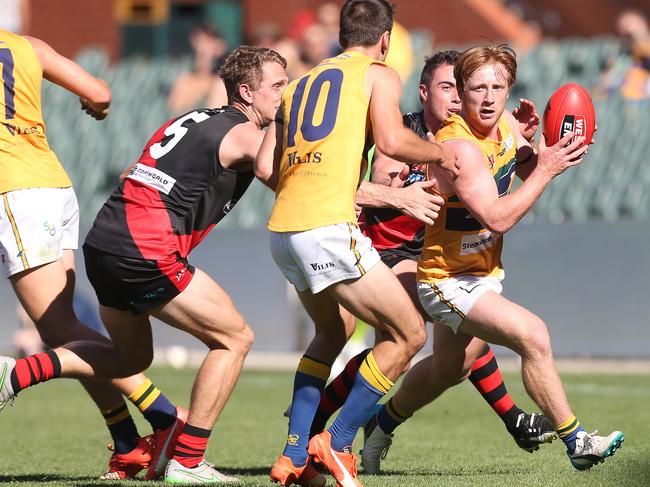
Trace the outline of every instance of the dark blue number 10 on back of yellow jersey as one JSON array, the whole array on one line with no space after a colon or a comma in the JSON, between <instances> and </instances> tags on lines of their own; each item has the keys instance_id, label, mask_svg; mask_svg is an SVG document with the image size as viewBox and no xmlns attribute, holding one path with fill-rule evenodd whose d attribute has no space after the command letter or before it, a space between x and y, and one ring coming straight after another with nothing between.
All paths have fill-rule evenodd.
<instances>
[{"instance_id":1,"label":"dark blue number 10 on back of yellow jersey","mask_svg":"<svg viewBox=\"0 0 650 487\"><path fill-rule=\"evenodd\" d=\"M289 125L287 127L287 145L293 147L296 145L296 133L298 131L298 112L302 99L305 95L305 86L309 81L309 77L304 77L298 82L296 91L291 99L291 112L289 114ZM323 92L323 85L329 83L329 90L327 91L327 100L325 100L325 108L323 109L323 119L320 125L314 125L314 115L316 106L321 98ZM341 101L341 86L343 85L343 71L340 69L327 69L322 71L309 87L307 94L307 102L302 115L302 124L300 124L300 132L302 138L309 142L327 137L336 125L336 116L339 110L339 103Z\"/></svg>"}]
</instances>

